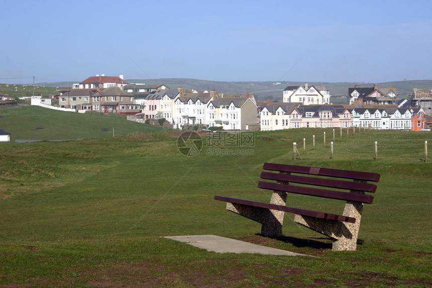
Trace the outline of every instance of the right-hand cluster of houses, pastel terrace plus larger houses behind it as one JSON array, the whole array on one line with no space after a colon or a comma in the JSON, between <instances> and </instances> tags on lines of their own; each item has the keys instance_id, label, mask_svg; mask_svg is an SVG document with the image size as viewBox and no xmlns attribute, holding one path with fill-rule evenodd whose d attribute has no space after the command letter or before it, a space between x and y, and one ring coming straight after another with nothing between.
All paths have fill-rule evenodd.
<instances>
[{"instance_id":1,"label":"right-hand cluster of houses, pastel terrace plus larger houses behind it","mask_svg":"<svg viewBox=\"0 0 432 288\"><path fill-rule=\"evenodd\" d=\"M268 103L260 113L261 130L292 128L403 129L426 128L422 108L396 100L395 88L349 88L350 105L331 105L329 90L323 85L288 86L283 103Z\"/></svg>"}]
</instances>

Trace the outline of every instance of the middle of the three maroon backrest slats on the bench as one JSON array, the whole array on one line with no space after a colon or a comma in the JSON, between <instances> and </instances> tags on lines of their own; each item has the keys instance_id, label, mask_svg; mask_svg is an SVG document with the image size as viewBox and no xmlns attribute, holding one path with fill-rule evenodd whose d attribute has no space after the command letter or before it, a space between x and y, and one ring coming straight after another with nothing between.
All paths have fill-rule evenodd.
<instances>
[{"instance_id":1,"label":"middle of the three maroon backrest slats on the bench","mask_svg":"<svg viewBox=\"0 0 432 288\"><path fill-rule=\"evenodd\" d=\"M293 183L318 185L323 187L332 187L340 189L358 190L375 193L377 186L370 183L352 182L345 180L315 178L310 176L298 176L290 174L280 174L272 172L261 172L262 179L287 181Z\"/></svg>"}]
</instances>

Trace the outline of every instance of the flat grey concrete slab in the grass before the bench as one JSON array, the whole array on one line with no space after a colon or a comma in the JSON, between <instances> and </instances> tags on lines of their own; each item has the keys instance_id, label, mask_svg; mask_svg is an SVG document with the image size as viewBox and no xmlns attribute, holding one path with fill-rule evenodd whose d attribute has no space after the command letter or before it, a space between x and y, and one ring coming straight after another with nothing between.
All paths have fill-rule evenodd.
<instances>
[{"instance_id":1,"label":"flat grey concrete slab in the grass before the bench","mask_svg":"<svg viewBox=\"0 0 432 288\"><path fill-rule=\"evenodd\" d=\"M164 238L184 242L216 253L259 253L267 255L307 256L216 235L166 236Z\"/></svg>"}]
</instances>

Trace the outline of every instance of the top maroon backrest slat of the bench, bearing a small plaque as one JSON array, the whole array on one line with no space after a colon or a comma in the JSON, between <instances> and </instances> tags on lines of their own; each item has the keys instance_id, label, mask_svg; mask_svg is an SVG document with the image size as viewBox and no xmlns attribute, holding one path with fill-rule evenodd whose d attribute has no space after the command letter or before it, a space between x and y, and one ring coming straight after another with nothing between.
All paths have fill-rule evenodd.
<instances>
[{"instance_id":1,"label":"top maroon backrest slat of the bench, bearing a small plaque","mask_svg":"<svg viewBox=\"0 0 432 288\"><path fill-rule=\"evenodd\" d=\"M286 165L286 164L275 164L275 163L264 163L265 170L283 171L301 174L314 174L321 176L330 176L347 179L357 179L378 182L380 174L371 172L361 171L348 171L331 168L317 168L317 167L306 167L297 165Z\"/></svg>"}]
</instances>

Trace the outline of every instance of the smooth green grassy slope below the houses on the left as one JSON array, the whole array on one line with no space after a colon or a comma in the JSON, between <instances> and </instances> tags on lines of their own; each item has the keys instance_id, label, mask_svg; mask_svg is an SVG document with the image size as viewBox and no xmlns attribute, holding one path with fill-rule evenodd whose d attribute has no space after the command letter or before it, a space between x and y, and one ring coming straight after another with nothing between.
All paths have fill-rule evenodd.
<instances>
[{"instance_id":1,"label":"smooth green grassy slope below the houses on the left","mask_svg":"<svg viewBox=\"0 0 432 288\"><path fill-rule=\"evenodd\" d=\"M126 135L136 132L161 131L162 127L126 120L125 115L63 112L26 106L0 109L0 128L11 133L11 141L29 140L69 140L103 138ZM43 129L36 129L42 126ZM101 131L102 128L109 131Z\"/></svg>"}]
</instances>

